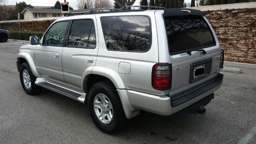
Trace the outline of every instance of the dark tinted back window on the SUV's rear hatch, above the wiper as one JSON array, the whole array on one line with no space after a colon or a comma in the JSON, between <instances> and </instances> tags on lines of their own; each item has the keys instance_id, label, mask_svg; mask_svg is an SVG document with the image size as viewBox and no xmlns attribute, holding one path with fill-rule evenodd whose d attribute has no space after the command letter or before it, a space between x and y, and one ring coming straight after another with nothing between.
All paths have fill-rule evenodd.
<instances>
[{"instance_id":1,"label":"dark tinted back window on the SUV's rear hatch, above the wiper","mask_svg":"<svg viewBox=\"0 0 256 144\"><path fill-rule=\"evenodd\" d=\"M215 44L212 32L202 17L169 17L165 24L171 54Z\"/></svg>"}]
</instances>

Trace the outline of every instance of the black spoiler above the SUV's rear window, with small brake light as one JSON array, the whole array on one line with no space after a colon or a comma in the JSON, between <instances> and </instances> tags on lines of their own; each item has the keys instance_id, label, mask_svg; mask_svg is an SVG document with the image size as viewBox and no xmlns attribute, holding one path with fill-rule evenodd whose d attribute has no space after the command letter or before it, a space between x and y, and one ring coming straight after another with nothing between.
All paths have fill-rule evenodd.
<instances>
[{"instance_id":1,"label":"black spoiler above the SUV's rear window, with small brake light","mask_svg":"<svg viewBox=\"0 0 256 144\"><path fill-rule=\"evenodd\" d=\"M168 8L164 9L164 17L169 16L205 16L200 10L188 9L188 8Z\"/></svg>"}]
</instances>

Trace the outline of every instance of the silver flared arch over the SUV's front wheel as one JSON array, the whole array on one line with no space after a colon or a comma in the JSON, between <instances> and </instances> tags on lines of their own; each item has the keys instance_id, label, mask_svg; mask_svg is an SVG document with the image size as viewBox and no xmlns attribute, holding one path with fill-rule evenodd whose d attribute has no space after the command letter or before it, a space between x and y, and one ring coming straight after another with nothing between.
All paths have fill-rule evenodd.
<instances>
[{"instance_id":1,"label":"silver flared arch over the SUV's front wheel","mask_svg":"<svg viewBox=\"0 0 256 144\"><path fill-rule=\"evenodd\" d=\"M37 70L36 70L36 65L32 59L32 57L30 56L30 54L26 53L26 52L20 52L17 55L17 69L18 71L20 70L20 65L23 62L28 62L28 65L30 66L30 69L33 73L33 75L37 78L40 77L40 75L38 74Z\"/></svg>"}]
</instances>

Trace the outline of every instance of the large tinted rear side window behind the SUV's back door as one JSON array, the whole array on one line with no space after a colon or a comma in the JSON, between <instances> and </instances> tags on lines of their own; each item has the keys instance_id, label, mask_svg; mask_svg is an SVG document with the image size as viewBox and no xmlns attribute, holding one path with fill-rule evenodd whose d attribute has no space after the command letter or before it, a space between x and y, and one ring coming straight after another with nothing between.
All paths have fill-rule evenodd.
<instances>
[{"instance_id":1,"label":"large tinted rear side window behind the SUV's back door","mask_svg":"<svg viewBox=\"0 0 256 144\"><path fill-rule=\"evenodd\" d=\"M146 51L151 46L150 21L146 16L101 18L108 50Z\"/></svg>"}]
</instances>

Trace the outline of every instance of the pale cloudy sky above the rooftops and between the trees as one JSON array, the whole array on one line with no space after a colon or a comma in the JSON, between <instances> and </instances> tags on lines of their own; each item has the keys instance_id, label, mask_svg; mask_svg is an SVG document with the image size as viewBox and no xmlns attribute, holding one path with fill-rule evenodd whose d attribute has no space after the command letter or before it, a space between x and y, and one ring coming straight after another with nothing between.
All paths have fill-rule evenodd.
<instances>
[{"instance_id":1,"label":"pale cloudy sky above the rooftops and between the trees","mask_svg":"<svg viewBox=\"0 0 256 144\"><path fill-rule=\"evenodd\" d=\"M7 5L16 5L16 2L26 2L26 4L31 4L32 6L54 6L57 0L8 0ZM64 0L59 0L60 3L64 2ZM69 2L69 6L77 10L76 3L77 0L66 0ZM114 5L114 0L110 0L110 2ZM140 0L136 0L133 5L139 5ZM191 0L185 0L186 3L191 2Z\"/></svg>"}]
</instances>

